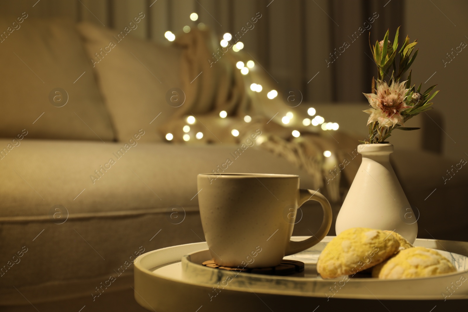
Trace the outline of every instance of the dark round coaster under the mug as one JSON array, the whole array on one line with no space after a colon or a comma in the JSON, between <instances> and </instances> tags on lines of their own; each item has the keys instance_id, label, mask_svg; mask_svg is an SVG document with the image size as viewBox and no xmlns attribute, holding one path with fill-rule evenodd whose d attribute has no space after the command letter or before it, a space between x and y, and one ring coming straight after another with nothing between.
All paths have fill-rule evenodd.
<instances>
[{"instance_id":1,"label":"dark round coaster under the mug","mask_svg":"<svg viewBox=\"0 0 468 312\"><path fill-rule=\"evenodd\" d=\"M202 263L206 267L210 268L219 268L228 271L237 271L244 273L255 273L255 274L265 274L265 275L279 275L286 276L292 275L295 273L300 273L304 271L304 262L295 261L295 260L285 260L283 259L279 265L276 267L270 268L229 268L229 267L220 267L213 260L208 260Z\"/></svg>"}]
</instances>

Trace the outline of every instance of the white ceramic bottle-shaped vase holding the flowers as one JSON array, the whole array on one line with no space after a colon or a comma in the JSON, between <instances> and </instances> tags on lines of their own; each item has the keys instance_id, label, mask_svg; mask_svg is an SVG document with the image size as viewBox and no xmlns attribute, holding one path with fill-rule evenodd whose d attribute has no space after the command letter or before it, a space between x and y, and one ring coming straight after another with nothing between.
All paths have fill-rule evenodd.
<instances>
[{"instance_id":1,"label":"white ceramic bottle-shaped vase holding the flowers","mask_svg":"<svg viewBox=\"0 0 468 312\"><path fill-rule=\"evenodd\" d=\"M352 227L395 231L413 243L417 217L390 165L391 144L361 144L362 163L336 219L336 235Z\"/></svg>"}]
</instances>

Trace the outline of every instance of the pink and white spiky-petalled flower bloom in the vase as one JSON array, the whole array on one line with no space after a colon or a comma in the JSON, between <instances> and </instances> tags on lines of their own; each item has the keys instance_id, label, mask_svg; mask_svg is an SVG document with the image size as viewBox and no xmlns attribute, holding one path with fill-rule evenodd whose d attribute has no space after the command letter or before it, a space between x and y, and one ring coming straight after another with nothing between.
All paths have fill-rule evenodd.
<instances>
[{"instance_id":1,"label":"pink and white spiky-petalled flower bloom in the vase","mask_svg":"<svg viewBox=\"0 0 468 312\"><path fill-rule=\"evenodd\" d=\"M380 127L392 127L396 124L403 126L401 113L411 107L405 102L405 94L408 91L405 84L406 81L394 82L388 87L386 81L377 80L377 94L363 93L372 106L363 110L370 115L367 124L378 121Z\"/></svg>"}]
</instances>

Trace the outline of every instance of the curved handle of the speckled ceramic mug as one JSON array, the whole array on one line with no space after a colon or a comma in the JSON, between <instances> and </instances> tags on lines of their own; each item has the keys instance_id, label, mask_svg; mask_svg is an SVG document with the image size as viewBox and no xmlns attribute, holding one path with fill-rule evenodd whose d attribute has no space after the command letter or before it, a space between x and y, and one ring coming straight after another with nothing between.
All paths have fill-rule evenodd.
<instances>
[{"instance_id":1,"label":"curved handle of the speckled ceramic mug","mask_svg":"<svg viewBox=\"0 0 468 312\"><path fill-rule=\"evenodd\" d=\"M306 250L307 248L310 248L316 245L328 234L328 231L330 230L332 213L331 213L331 206L327 198L325 198L325 196L323 196L317 191L314 191L311 189L300 189L299 198L298 198L299 207L302 206L303 203L309 200L317 201L322 205L322 210L323 210L322 225L320 226L320 229L318 230L318 232L308 239L301 240L301 241L290 240L289 244L286 247L285 256L288 256L290 254L297 254L303 250Z\"/></svg>"}]
</instances>

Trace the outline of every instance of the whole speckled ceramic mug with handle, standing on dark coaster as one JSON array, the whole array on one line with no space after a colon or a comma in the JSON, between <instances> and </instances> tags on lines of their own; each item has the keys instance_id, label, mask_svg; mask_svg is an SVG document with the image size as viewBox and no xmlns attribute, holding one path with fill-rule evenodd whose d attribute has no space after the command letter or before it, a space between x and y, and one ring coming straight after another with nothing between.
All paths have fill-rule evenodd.
<instances>
[{"instance_id":1,"label":"whole speckled ceramic mug with handle, standing on dark coaster","mask_svg":"<svg viewBox=\"0 0 468 312\"><path fill-rule=\"evenodd\" d=\"M292 174L198 174L200 217L215 263L274 267L322 240L331 225L330 203L317 191L299 189L299 180ZM308 200L322 205L322 225L314 236L291 241L297 209Z\"/></svg>"}]
</instances>

